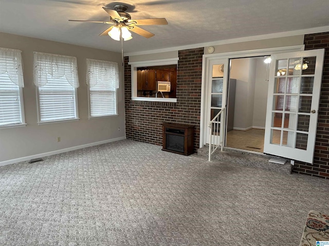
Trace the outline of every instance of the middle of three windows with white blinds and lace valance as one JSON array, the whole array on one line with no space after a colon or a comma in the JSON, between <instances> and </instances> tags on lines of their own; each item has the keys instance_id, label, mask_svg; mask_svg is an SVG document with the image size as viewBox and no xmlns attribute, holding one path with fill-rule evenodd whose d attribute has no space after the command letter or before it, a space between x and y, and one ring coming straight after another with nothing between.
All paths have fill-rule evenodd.
<instances>
[{"instance_id":1,"label":"middle of three windows with white blinds and lace valance","mask_svg":"<svg viewBox=\"0 0 329 246\"><path fill-rule=\"evenodd\" d=\"M78 119L77 58L34 52L39 123Z\"/></svg>"}]
</instances>

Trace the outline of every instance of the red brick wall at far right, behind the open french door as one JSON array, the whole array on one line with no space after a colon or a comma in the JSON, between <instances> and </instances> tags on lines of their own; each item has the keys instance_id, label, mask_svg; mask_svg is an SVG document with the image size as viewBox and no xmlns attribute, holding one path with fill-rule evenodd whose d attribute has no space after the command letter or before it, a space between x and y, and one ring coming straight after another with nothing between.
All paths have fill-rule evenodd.
<instances>
[{"instance_id":1,"label":"red brick wall at far right, behind the open french door","mask_svg":"<svg viewBox=\"0 0 329 246\"><path fill-rule=\"evenodd\" d=\"M314 163L295 162L293 172L329 179L329 32L307 34L305 50L325 48Z\"/></svg>"}]
</instances>

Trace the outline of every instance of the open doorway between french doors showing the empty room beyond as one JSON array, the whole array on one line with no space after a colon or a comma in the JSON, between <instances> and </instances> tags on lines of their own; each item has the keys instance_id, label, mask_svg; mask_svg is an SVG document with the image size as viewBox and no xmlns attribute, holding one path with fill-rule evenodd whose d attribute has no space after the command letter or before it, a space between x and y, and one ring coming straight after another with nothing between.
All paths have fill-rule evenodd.
<instances>
[{"instance_id":1,"label":"open doorway between french doors showing the empty room beyond","mask_svg":"<svg viewBox=\"0 0 329 246\"><path fill-rule=\"evenodd\" d=\"M264 152L269 77L265 59L266 56L230 59L226 147Z\"/></svg>"}]
</instances>

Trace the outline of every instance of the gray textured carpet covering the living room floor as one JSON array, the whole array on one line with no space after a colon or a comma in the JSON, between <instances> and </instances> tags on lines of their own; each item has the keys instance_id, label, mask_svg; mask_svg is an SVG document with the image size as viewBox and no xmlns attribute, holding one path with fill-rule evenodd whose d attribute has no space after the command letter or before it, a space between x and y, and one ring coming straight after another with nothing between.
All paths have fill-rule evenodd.
<instances>
[{"instance_id":1,"label":"gray textured carpet covering the living room floor","mask_svg":"<svg viewBox=\"0 0 329 246\"><path fill-rule=\"evenodd\" d=\"M328 191L122 140L0 167L0 245L298 245Z\"/></svg>"}]
</instances>

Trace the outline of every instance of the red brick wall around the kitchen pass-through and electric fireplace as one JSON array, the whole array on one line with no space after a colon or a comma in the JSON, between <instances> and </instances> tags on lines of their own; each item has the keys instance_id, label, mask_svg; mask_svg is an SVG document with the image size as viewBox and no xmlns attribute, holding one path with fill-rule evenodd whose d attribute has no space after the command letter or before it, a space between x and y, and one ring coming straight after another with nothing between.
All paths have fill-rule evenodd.
<instances>
[{"instance_id":1,"label":"red brick wall around the kitchen pass-through and electric fireplace","mask_svg":"<svg viewBox=\"0 0 329 246\"><path fill-rule=\"evenodd\" d=\"M162 145L162 122L194 125L194 151L200 138L203 48L178 51L177 103L131 100L131 66L124 58L126 138Z\"/></svg>"}]
</instances>

